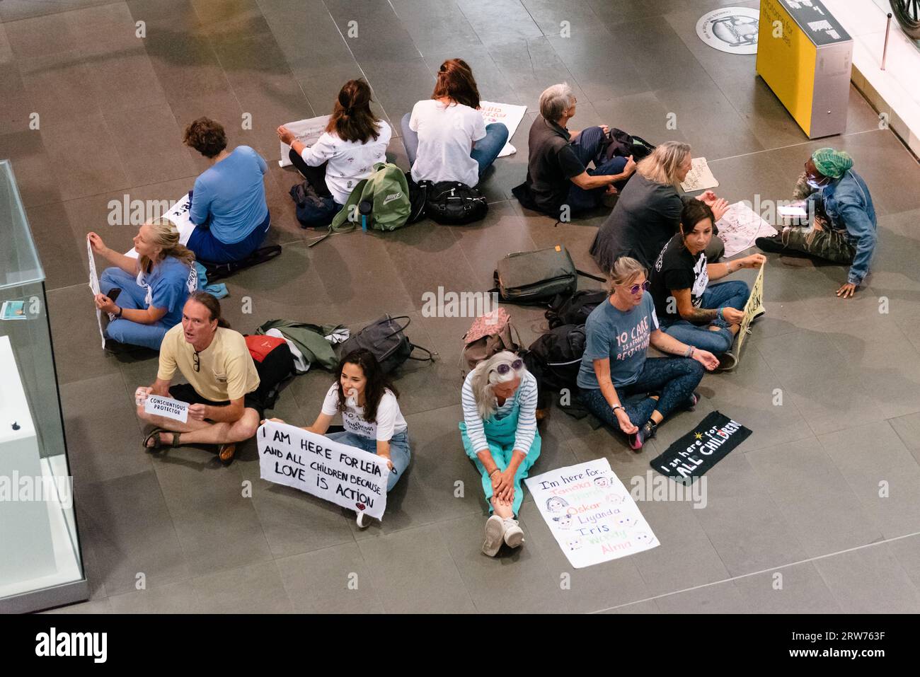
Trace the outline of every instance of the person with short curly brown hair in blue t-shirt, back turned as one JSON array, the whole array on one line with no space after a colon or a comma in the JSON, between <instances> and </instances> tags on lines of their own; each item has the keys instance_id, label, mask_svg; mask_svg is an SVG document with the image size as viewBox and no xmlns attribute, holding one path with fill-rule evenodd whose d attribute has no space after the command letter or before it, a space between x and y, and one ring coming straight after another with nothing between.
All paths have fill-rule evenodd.
<instances>
[{"instance_id":1,"label":"person with short curly brown hair in blue t-shirt, back turned","mask_svg":"<svg viewBox=\"0 0 920 677\"><path fill-rule=\"evenodd\" d=\"M211 161L190 192L189 218L195 229L188 247L202 263L248 258L271 225L262 178L269 166L247 145L227 151L224 127L208 118L186 127L184 141Z\"/></svg>"}]
</instances>

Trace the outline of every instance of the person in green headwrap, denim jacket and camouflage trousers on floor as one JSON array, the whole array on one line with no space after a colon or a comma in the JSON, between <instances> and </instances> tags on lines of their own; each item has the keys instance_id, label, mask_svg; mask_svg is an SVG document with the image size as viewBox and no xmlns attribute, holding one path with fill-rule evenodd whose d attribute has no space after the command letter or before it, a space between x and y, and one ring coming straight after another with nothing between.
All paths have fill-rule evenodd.
<instances>
[{"instance_id":1,"label":"person in green headwrap, denim jacket and camouflage trousers on floor","mask_svg":"<svg viewBox=\"0 0 920 677\"><path fill-rule=\"evenodd\" d=\"M853 171L853 158L833 148L819 148L805 163L806 180L815 189L806 199L814 213L811 229L786 227L754 244L766 252L802 252L834 263L849 263L840 298L856 293L868 275L879 234L866 181ZM812 211L813 210L813 211Z\"/></svg>"}]
</instances>

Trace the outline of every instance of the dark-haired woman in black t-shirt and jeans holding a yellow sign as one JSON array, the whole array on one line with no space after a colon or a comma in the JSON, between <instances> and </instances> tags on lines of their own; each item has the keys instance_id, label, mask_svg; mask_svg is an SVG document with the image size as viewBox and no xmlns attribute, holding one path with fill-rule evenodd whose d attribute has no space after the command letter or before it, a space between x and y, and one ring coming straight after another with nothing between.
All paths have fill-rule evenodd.
<instances>
[{"instance_id":1,"label":"dark-haired woman in black t-shirt and jeans holding a yellow sign","mask_svg":"<svg viewBox=\"0 0 920 677\"><path fill-rule=\"evenodd\" d=\"M752 254L726 263L707 263L712 239L712 209L698 200L684 202L680 232L661 249L651 270L651 297L661 331L679 341L708 350L720 369L731 369L737 358L731 344L744 319L751 290L732 280L710 285L742 268L760 268L766 258Z\"/></svg>"}]
</instances>

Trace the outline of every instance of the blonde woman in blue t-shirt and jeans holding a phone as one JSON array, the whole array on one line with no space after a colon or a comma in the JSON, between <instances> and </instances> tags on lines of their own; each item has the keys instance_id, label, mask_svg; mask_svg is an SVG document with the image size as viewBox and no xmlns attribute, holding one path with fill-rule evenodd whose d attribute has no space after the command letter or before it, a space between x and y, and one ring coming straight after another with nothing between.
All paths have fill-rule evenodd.
<instances>
[{"instance_id":1,"label":"blonde woman in blue t-shirt and jeans holding a phone","mask_svg":"<svg viewBox=\"0 0 920 677\"><path fill-rule=\"evenodd\" d=\"M161 217L142 225L134 235L137 258L109 249L96 233L86 237L93 253L115 266L102 271L96 295L96 307L112 317L106 338L160 350L167 331L181 322L189 294L198 290L195 255L178 244L176 224Z\"/></svg>"}]
</instances>

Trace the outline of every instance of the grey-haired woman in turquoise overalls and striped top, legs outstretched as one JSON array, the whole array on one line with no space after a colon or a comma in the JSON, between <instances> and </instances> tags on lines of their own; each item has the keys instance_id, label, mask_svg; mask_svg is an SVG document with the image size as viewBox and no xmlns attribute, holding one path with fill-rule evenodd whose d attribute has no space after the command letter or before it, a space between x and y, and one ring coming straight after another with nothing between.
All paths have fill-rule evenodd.
<instances>
[{"instance_id":1,"label":"grey-haired woman in turquoise overalls and striped top, legs outstretched","mask_svg":"<svg viewBox=\"0 0 920 677\"><path fill-rule=\"evenodd\" d=\"M482 475L492 513L482 552L495 557L502 543L512 548L523 544L514 517L523 501L521 481L540 455L536 378L520 357L502 350L467 374L462 401L464 450Z\"/></svg>"}]
</instances>

